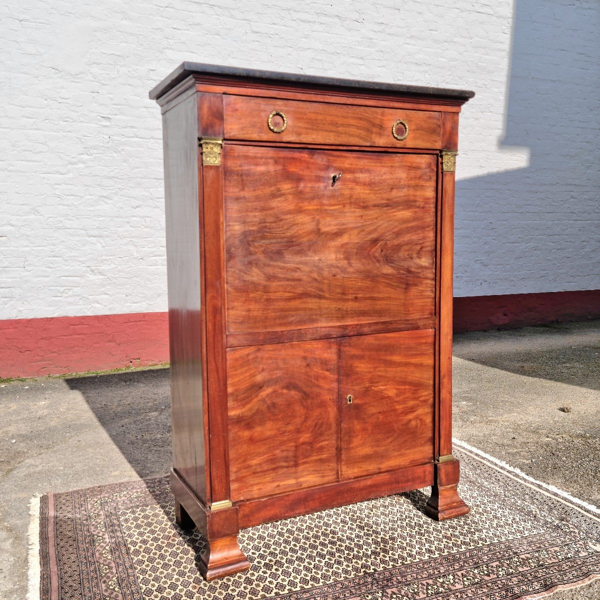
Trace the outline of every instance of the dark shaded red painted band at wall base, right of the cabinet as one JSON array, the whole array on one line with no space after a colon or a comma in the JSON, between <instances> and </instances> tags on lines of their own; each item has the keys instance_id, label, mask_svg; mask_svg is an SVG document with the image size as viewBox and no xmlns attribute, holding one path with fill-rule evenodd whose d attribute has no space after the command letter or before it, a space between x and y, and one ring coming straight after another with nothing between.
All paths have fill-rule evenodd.
<instances>
[{"instance_id":1,"label":"dark shaded red painted band at wall base, right of the cabinet","mask_svg":"<svg viewBox=\"0 0 600 600\"><path fill-rule=\"evenodd\" d=\"M454 298L454 332L600 318L600 290Z\"/></svg>"}]
</instances>

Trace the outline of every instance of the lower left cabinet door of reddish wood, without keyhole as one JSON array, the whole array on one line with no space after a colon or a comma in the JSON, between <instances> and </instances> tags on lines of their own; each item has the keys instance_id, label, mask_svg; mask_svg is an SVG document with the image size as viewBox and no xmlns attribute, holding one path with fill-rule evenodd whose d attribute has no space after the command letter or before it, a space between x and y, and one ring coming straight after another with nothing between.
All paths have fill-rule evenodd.
<instances>
[{"instance_id":1,"label":"lower left cabinet door of reddish wood, without keyhole","mask_svg":"<svg viewBox=\"0 0 600 600\"><path fill-rule=\"evenodd\" d=\"M337 478L337 342L227 350L232 500Z\"/></svg>"}]
</instances>

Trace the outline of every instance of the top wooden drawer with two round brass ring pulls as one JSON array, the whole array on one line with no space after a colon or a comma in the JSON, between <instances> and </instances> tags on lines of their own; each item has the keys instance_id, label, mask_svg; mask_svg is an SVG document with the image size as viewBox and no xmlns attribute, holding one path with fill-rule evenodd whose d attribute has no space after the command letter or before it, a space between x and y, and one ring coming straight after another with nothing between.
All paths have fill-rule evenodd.
<instances>
[{"instance_id":1,"label":"top wooden drawer with two round brass ring pulls","mask_svg":"<svg viewBox=\"0 0 600 600\"><path fill-rule=\"evenodd\" d=\"M440 113L224 96L225 139L440 148Z\"/></svg>"}]
</instances>

